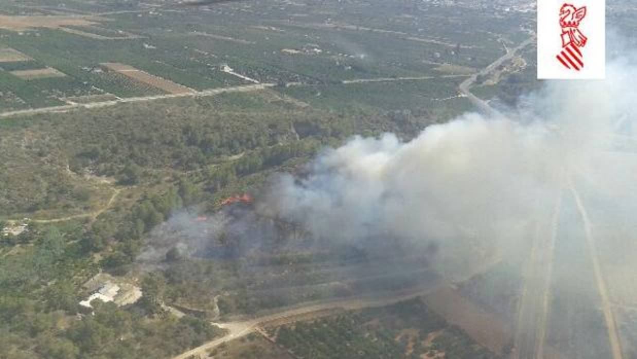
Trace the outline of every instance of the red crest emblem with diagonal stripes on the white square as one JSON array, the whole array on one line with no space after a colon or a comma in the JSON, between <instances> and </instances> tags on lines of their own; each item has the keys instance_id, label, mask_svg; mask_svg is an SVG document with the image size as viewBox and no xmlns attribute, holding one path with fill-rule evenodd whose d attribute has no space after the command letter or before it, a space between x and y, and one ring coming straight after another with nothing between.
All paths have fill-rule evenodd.
<instances>
[{"instance_id":1,"label":"red crest emblem with diagonal stripes on the white square","mask_svg":"<svg viewBox=\"0 0 637 359\"><path fill-rule=\"evenodd\" d=\"M586 17L586 6L576 8L565 3L559 11L559 25L562 27L562 51L556 57L564 67L575 69L575 71L580 71L584 67L580 48L586 46L588 38L578 28L584 17Z\"/></svg>"}]
</instances>

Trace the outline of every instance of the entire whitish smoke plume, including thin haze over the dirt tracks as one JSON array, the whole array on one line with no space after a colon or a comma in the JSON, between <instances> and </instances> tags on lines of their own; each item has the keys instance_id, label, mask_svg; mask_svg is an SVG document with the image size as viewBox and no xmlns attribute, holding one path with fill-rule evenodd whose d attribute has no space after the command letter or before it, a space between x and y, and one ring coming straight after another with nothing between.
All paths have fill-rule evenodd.
<instances>
[{"instance_id":1,"label":"entire whitish smoke plume, including thin haze over the dirt tracks","mask_svg":"<svg viewBox=\"0 0 637 359\"><path fill-rule=\"evenodd\" d=\"M613 45L624 48L616 39L608 43L610 53ZM259 248L259 243L279 253L276 245L285 242L280 241L285 237L282 232L291 232L292 227L310 234L301 236L302 245L336 244L331 248L336 253L350 247L371 253L367 256L371 265L354 265L354 271L336 265L326 282L353 283L357 276L366 278L369 268L390 274L419 270L408 274L419 279L424 276L422 263L413 262L410 267L404 265L404 257L424 253L427 272L435 272L435 278L429 273L422 283L431 285L441 274L459 283L462 291L463 283L471 282L463 279L477 277L479 284L483 269L490 270L495 267L492 264L510 257L514 265L505 270L517 274L496 278L496 273L481 288L481 298L488 297L488 304L513 322L517 314L512 308L518 299L512 299L512 293L522 292L521 283L515 286L515 276L522 281L529 274L522 268L538 271L531 276L544 276L538 267L526 265L534 263L529 258L536 244L531 243L541 243L544 247L538 251L555 253L546 277L550 283L550 297L545 297L550 298L547 343L574 347L581 353L595 349L602 354L588 357L610 358L603 324L610 316L599 311L609 304L599 299L599 278L608 281L608 297L617 302L634 304L637 293L637 286L630 284L637 273L635 64L629 57L612 60L603 81L547 82L521 101L528 104L524 108L502 111L497 118L466 114L431 125L410 141L394 134L354 137L340 148L324 151L303 174L272 178L255 196L254 208L229 206L204 222L186 214L173 217L164 227L174 230L174 235L166 229L163 236L155 236L151 243L155 251L145 251L146 257L140 260L157 263L177 243L188 253L230 257ZM564 204L557 206L562 197ZM238 244L218 246L221 234ZM538 240L541 237L557 244L552 248L551 241ZM592 242L598 248L595 255ZM427 253L431 243L436 244L435 257ZM392 246L401 248L391 252ZM391 253L383 258L383 251ZM600 271L592 265L597 253L603 271L594 275ZM551 268L549 261L537 263ZM429 271L430 264L434 271ZM263 270L248 264L242 269ZM370 286L393 290L396 278L388 276ZM536 281L529 282L525 292L543 295L543 289L533 286ZM279 290L276 285L271 288ZM352 288L357 292L355 285ZM473 287L468 288L473 293ZM542 314L535 310L529 309L536 316ZM629 353L637 353L634 317L619 318L620 331L626 336L622 345ZM526 324L519 326L522 334Z\"/></svg>"}]
</instances>

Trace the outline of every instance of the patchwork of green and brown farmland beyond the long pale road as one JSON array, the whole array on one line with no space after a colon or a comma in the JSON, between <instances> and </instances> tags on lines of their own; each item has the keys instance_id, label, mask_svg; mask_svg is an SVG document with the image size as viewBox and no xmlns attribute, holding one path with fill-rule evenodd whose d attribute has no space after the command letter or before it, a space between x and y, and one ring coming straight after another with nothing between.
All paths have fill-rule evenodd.
<instances>
[{"instance_id":1,"label":"patchwork of green and brown farmland beyond the long pale road","mask_svg":"<svg viewBox=\"0 0 637 359\"><path fill-rule=\"evenodd\" d=\"M273 5L269 1L201 9L160 1L0 5L0 63L4 65L0 68L10 72L3 74L7 81L0 111L57 106L66 97L144 97L249 83L221 71L226 65L261 83L317 86L318 90L295 88L286 94L308 102L307 97L320 92L325 98L309 102L321 106L347 107L351 101L340 99L343 92L364 91L369 98L353 99L355 106L466 109L466 102L453 98L459 83L454 78L423 81L416 97L395 92L391 86L384 92L374 84L339 86L344 80L471 74L527 34L519 22L506 18L479 20L477 9L471 10L475 16L463 15L461 20L445 8L427 4L415 8L374 4L364 10L367 15L355 15L361 9L356 4L327 3L320 11L298 4ZM406 15L413 11L418 12L417 18ZM456 25L446 25L450 19L472 22L477 30L459 32ZM365 25L357 24L363 20ZM100 64L107 62L140 72L103 73ZM18 80L29 73L15 72L32 71L29 76L34 76L34 70L43 68L65 74L66 83L25 84ZM383 98L387 101L379 101ZM446 102L431 102L441 99Z\"/></svg>"}]
</instances>

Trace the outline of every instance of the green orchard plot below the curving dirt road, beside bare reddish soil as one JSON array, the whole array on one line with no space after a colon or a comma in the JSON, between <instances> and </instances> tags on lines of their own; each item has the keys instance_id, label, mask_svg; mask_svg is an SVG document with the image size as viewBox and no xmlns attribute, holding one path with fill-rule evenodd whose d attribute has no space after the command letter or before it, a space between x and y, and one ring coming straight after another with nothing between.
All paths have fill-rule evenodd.
<instances>
[{"instance_id":1,"label":"green orchard plot below the curving dirt road, beside bare reddish soil","mask_svg":"<svg viewBox=\"0 0 637 359\"><path fill-rule=\"evenodd\" d=\"M498 357L420 299L270 326L265 333L280 348L303 358Z\"/></svg>"}]
</instances>

